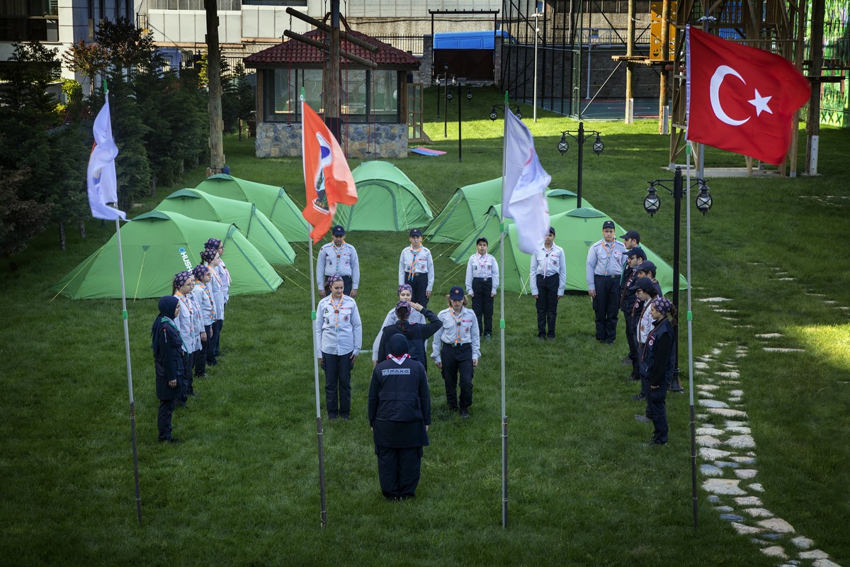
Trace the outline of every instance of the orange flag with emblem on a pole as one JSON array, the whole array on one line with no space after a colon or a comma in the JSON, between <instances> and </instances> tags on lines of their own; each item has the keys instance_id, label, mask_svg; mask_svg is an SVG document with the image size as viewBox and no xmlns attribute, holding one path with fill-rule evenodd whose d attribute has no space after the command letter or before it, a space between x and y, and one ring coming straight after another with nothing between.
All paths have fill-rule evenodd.
<instances>
[{"instance_id":1,"label":"orange flag with emblem on a pole","mask_svg":"<svg viewBox=\"0 0 850 567\"><path fill-rule=\"evenodd\" d=\"M304 185L307 190L307 206L302 214L313 226L310 237L315 244L331 230L337 203L354 205L357 202L357 186L337 139L319 115L303 101L301 116Z\"/></svg>"}]
</instances>

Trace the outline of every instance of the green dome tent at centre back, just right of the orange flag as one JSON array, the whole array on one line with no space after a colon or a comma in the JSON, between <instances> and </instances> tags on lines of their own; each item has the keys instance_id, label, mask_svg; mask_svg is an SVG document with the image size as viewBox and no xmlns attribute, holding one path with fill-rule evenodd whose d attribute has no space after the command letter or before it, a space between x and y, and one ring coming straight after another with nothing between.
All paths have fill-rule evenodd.
<instances>
[{"instance_id":1,"label":"green dome tent at centre back, just right of the orange flag","mask_svg":"<svg viewBox=\"0 0 850 567\"><path fill-rule=\"evenodd\" d=\"M357 202L337 205L335 224L345 230L399 231L422 227L433 213L422 191L389 162L364 162L351 175L357 184Z\"/></svg>"}]
</instances>

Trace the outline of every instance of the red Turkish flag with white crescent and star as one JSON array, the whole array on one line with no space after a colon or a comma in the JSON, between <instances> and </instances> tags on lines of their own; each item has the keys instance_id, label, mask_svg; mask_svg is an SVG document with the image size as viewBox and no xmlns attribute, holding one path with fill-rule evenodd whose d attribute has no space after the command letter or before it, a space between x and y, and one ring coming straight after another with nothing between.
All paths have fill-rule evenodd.
<instances>
[{"instance_id":1,"label":"red Turkish flag with white crescent and star","mask_svg":"<svg viewBox=\"0 0 850 567\"><path fill-rule=\"evenodd\" d=\"M688 26L687 139L779 165L812 88L784 57Z\"/></svg>"}]
</instances>

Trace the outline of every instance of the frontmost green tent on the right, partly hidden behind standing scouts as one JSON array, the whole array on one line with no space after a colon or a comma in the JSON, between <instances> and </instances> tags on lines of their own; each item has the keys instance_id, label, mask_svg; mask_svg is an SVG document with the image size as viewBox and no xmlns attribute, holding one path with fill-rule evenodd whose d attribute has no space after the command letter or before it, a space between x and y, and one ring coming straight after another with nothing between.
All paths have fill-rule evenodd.
<instances>
[{"instance_id":1,"label":"frontmost green tent on the right, partly hidden behind standing scouts","mask_svg":"<svg viewBox=\"0 0 850 567\"><path fill-rule=\"evenodd\" d=\"M566 289L575 292L587 292L587 281L585 279L585 267L587 266L587 250L591 245L602 238L602 224L611 218L594 208L581 207L559 213L549 218L550 224L556 232L555 244L564 248L564 256L567 262L567 285ZM615 223L618 235L625 234L625 230ZM498 235L496 235L498 238ZM505 234L505 262L499 266L502 285L506 292L530 293L529 271L531 264L530 254L521 252L517 246L517 227L514 224L507 225ZM664 292L673 288L673 269L670 264L662 260L658 254L649 250L643 242L643 252L649 260L658 268L656 277ZM499 245L490 246L490 253L499 258ZM688 282L680 275L680 289L686 289Z\"/></svg>"}]
</instances>

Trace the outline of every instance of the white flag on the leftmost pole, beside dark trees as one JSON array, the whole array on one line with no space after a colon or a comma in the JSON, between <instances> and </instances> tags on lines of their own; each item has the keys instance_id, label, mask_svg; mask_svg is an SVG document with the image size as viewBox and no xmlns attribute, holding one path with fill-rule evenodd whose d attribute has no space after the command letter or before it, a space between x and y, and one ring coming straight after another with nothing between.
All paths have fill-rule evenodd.
<instances>
[{"instance_id":1,"label":"white flag on the leftmost pole, beside dark trees","mask_svg":"<svg viewBox=\"0 0 850 567\"><path fill-rule=\"evenodd\" d=\"M115 158L118 147L112 139L112 122L109 114L109 96L107 95L103 108L94 119L94 146L92 155L88 158L88 206L92 209L94 218L115 220L127 215L123 211L108 206L106 203L117 203L118 181L115 174Z\"/></svg>"}]
</instances>

